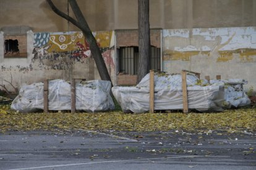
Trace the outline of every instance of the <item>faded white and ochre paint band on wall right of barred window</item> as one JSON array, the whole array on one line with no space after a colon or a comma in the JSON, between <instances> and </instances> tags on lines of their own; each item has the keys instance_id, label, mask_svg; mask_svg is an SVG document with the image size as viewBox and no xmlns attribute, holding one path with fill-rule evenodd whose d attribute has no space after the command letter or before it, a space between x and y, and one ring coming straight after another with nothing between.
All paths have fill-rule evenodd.
<instances>
[{"instance_id":1,"label":"faded white and ochre paint band on wall right of barred window","mask_svg":"<svg viewBox=\"0 0 256 170\"><path fill-rule=\"evenodd\" d=\"M206 55L216 62L256 62L256 28L163 30L163 60L189 61Z\"/></svg>"}]
</instances>

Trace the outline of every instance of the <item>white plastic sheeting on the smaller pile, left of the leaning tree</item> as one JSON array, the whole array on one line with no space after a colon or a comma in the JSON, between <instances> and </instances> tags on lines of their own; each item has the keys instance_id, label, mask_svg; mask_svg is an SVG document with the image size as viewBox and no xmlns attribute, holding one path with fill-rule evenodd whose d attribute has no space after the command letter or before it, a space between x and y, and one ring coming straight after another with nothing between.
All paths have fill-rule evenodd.
<instances>
[{"instance_id":1,"label":"white plastic sheeting on the smaller pile, left of the leaning tree","mask_svg":"<svg viewBox=\"0 0 256 170\"><path fill-rule=\"evenodd\" d=\"M93 80L75 84L75 108L88 112L114 109L109 94L110 81ZM54 79L48 84L48 109L70 110L70 84L62 79ZM22 86L11 108L21 112L33 112L43 109L43 83Z\"/></svg>"}]
</instances>

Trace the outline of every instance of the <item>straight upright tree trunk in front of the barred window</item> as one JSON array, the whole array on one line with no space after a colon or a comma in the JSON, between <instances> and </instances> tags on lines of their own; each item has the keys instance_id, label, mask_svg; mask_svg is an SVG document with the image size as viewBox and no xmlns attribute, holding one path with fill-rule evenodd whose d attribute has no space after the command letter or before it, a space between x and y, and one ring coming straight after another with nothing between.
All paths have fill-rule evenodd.
<instances>
[{"instance_id":1,"label":"straight upright tree trunk in front of the barred window","mask_svg":"<svg viewBox=\"0 0 256 170\"><path fill-rule=\"evenodd\" d=\"M139 66L137 83L150 70L149 0L138 0Z\"/></svg>"}]
</instances>

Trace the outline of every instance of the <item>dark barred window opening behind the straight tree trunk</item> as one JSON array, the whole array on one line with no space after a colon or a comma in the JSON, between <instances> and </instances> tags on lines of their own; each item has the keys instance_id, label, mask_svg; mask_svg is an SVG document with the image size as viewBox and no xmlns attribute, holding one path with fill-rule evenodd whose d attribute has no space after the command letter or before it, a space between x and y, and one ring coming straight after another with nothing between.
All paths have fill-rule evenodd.
<instances>
[{"instance_id":1,"label":"dark barred window opening behind the straight tree trunk","mask_svg":"<svg viewBox=\"0 0 256 170\"><path fill-rule=\"evenodd\" d=\"M151 70L161 70L161 49L151 46ZM120 47L119 72L127 75L137 75L139 64L139 47Z\"/></svg>"}]
</instances>

